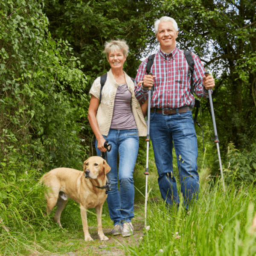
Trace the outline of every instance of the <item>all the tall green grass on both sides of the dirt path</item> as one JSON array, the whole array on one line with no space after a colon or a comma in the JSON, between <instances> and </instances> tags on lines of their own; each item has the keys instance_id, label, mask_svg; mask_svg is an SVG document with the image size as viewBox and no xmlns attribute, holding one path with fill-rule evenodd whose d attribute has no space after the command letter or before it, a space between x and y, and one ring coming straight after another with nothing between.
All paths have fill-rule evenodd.
<instances>
[{"instance_id":1,"label":"all the tall green grass on both sides of the dirt path","mask_svg":"<svg viewBox=\"0 0 256 256\"><path fill-rule=\"evenodd\" d=\"M236 186L237 176L233 175L224 193L221 183L209 176L211 170L203 167L203 159L201 190L193 209L187 214L181 204L178 211L168 210L160 198L152 151L150 155L148 191L151 192L146 220L150 228L145 231L139 246L134 243L124 247L128 255L256 255L256 231L249 232L255 212L256 189L253 185L239 183ZM142 204L145 200L143 160L134 172L136 198ZM29 169L28 166L9 164L0 172L0 255L25 255L29 251L41 253L45 250L60 253L68 251L69 246L78 247L76 243L83 241L84 236L79 205L72 200L67 203L61 214L64 229L60 229L53 221L54 210L51 215L45 215L44 189L38 185L43 174L41 169ZM141 212L144 212L143 206ZM106 203L102 214L103 225L111 227ZM96 227L93 209L88 213L88 224ZM68 242L63 243L63 239ZM74 245L68 245L70 239ZM51 241L61 241L62 247L54 246Z\"/></svg>"}]
</instances>

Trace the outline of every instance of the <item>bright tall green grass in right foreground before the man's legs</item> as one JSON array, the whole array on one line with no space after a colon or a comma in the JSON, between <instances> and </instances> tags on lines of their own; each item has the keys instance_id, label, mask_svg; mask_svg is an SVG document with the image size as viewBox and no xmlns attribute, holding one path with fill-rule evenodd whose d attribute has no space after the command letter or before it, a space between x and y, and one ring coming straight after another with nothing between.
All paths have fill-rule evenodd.
<instances>
[{"instance_id":1,"label":"bright tall green grass in right foreground before the man's legs","mask_svg":"<svg viewBox=\"0 0 256 256\"><path fill-rule=\"evenodd\" d=\"M145 236L140 245L125 248L128 255L242 256L256 255L256 235L249 232L255 207L253 186L220 184L201 186L193 209L186 212L165 207L163 201L148 204Z\"/></svg>"}]
</instances>

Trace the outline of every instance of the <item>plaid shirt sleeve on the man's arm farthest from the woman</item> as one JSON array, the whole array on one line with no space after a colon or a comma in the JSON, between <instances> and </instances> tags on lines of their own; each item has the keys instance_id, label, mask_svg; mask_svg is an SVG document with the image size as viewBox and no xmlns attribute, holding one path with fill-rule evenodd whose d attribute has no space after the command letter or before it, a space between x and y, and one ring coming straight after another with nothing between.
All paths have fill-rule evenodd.
<instances>
[{"instance_id":1,"label":"plaid shirt sleeve on the man's arm farthest from the woman","mask_svg":"<svg viewBox=\"0 0 256 256\"><path fill-rule=\"evenodd\" d=\"M204 77L204 66L201 63L201 60L198 56L194 55L194 74L193 74L193 81L195 86L195 95L200 98L208 98L208 91L205 89L203 85L203 77ZM211 90L212 92L212 90Z\"/></svg>"}]
</instances>

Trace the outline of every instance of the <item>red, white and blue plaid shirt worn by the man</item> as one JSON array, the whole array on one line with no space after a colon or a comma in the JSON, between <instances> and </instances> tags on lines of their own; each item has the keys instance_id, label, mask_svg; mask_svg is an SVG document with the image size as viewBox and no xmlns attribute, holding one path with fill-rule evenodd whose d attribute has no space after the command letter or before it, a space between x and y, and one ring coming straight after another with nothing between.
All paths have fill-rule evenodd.
<instances>
[{"instance_id":1,"label":"red, white and blue plaid shirt worn by the man","mask_svg":"<svg viewBox=\"0 0 256 256\"><path fill-rule=\"evenodd\" d=\"M204 67L200 59L192 53L195 62L193 83L195 85L195 95L207 98L208 91L204 88L202 80L204 77ZM137 86L139 81L143 81L146 75L146 65L148 58L140 64L136 79L134 93L139 101L148 98L148 89ZM169 55L159 50L154 57L151 67L154 79L154 90L151 92L151 108L180 108L182 106L195 105L195 98L190 92L191 74L189 64L186 61L184 51L175 49Z\"/></svg>"}]
</instances>

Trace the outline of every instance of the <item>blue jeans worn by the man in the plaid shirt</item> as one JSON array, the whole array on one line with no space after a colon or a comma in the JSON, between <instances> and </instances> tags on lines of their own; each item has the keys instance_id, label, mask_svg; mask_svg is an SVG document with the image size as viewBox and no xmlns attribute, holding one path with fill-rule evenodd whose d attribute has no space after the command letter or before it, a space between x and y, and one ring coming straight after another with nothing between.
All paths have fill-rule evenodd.
<instances>
[{"instance_id":1,"label":"blue jeans worn by the man in the plaid shirt","mask_svg":"<svg viewBox=\"0 0 256 256\"><path fill-rule=\"evenodd\" d=\"M177 109L176 109L177 111ZM197 137L191 111L163 115L150 113L150 138L158 172L158 184L167 205L180 204L177 183L173 175L172 146L177 156L180 189L184 206L198 198L199 176L197 172Z\"/></svg>"}]
</instances>

